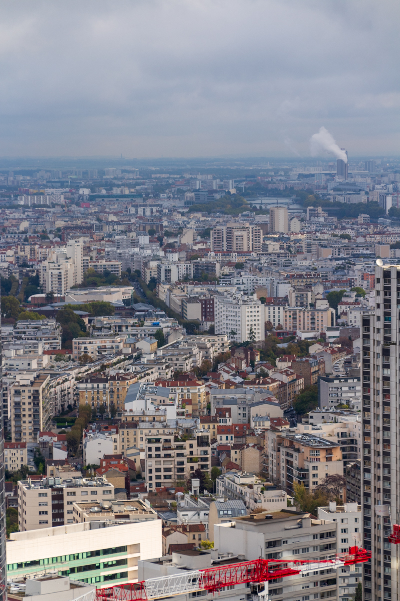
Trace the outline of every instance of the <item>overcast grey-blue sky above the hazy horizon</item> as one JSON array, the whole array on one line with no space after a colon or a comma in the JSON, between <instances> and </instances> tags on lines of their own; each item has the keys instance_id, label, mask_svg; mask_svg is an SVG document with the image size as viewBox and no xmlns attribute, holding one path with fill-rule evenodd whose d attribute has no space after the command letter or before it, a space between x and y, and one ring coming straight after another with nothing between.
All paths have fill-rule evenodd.
<instances>
[{"instance_id":1,"label":"overcast grey-blue sky above the hazy horizon","mask_svg":"<svg viewBox=\"0 0 400 601\"><path fill-rule=\"evenodd\" d=\"M0 156L400 154L398 0L14 0Z\"/></svg>"}]
</instances>

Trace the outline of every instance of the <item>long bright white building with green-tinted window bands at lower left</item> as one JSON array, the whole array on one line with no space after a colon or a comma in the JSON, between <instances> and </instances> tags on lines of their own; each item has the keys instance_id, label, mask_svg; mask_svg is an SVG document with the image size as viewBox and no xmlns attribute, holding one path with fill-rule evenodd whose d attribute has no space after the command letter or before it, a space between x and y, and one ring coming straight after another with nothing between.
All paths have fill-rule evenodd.
<instances>
[{"instance_id":1,"label":"long bright white building with green-tinted window bands at lower left","mask_svg":"<svg viewBox=\"0 0 400 601\"><path fill-rule=\"evenodd\" d=\"M103 520L14 532L8 578L53 570L97 588L137 582L138 562L162 555L161 528L161 520Z\"/></svg>"}]
</instances>

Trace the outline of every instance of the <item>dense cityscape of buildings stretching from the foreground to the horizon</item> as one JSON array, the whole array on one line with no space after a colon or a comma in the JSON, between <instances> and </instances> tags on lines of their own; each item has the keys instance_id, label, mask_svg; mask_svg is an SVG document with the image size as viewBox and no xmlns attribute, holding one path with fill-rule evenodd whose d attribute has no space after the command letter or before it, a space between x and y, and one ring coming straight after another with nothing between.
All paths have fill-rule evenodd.
<instances>
[{"instance_id":1,"label":"dense cityscape of buildings stretching from the foreground to the horizon","mask_svg":"<svg viewBox=\"0 0 400 601\"><path fill-rule=\"evenodd\" d=\"M2 168L8 599L395 598L400 162L339 150Z\"/></svg>"}]
</instances>

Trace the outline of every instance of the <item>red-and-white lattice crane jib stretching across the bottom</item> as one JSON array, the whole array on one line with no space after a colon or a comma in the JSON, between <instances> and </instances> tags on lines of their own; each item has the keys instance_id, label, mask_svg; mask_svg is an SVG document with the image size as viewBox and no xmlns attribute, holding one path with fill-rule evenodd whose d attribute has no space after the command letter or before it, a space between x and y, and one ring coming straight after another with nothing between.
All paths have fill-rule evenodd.
<instances>
[{"instance_id":1,"label":"red-and-white lattice crane jib stretching across the bottom","mask_svg":"<svg viewBox=\"0 0 400 601\"><path fill-rule=\"evenodd\" d=\"M96 599L101 601L151 601L197 591L218 593L222 588L235 584L254 585L252 592L267 594L268 582L306 572L317 572L327 568L339 568L364 563L371 559L371 551L350 547L349 553L335 555L329 560L254 560L228 566L193 570L173 576L151 578L137 584L122 584L111 588L100 588ZM266 586L265 586L266 584ZM263 586L264 585L264 586Z\"/></svg>"}]
</instances>

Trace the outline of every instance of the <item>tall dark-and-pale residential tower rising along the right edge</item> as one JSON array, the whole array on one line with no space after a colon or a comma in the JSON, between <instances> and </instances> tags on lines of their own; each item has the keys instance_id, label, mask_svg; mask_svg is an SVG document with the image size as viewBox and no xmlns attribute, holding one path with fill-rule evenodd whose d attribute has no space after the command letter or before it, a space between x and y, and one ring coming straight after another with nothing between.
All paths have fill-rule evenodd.
<instances>
[{"instance_id":1,"label":"tall dark-and-pale residential tower rising along the right edge","mask_svg":"<svg viewBox=\"0 0 400 601\"><path fill-rule=\"evenodd\" d=\"M363 593L366 600L393 601L399 598L400 581L400 546L388 538L399 523L400 266L383 266L378 260L375 287L375 313L362 318L362 503L364 546L372 551Z\"/></svg>"}]
</instances>

